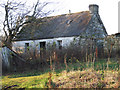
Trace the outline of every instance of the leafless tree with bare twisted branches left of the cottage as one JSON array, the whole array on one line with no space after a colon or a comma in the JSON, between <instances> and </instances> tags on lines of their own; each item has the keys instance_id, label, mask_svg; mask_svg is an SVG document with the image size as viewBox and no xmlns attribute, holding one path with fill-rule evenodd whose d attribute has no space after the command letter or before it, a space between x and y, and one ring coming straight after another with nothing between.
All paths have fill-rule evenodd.
<instances>
[{"instance_id":1,"label":"leafless tree with bare twisted branches left of the cottage","mask_svg":"<svg viewBox=\"0 0 120 90\"><path fill-rule=\"evenodd\" d=\"M1 4L1 7L5 10L5 18L3 21L3 31L5 33L5 45L12 48L12 39L21 31L21 28L33 21L33 18L44 17L53 10L44 12L45 6L51 2L40 3L38 0L32 7L26 5L26 2L10 1ZM27 18L30 18L26 20Z\"/></svg>"}]
</instances>

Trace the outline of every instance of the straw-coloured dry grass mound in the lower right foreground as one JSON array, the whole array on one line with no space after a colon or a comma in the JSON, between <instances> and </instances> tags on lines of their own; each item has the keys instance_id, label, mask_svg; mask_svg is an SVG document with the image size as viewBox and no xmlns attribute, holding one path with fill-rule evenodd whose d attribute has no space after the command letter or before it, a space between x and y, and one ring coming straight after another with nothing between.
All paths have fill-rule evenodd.
<instances>
[{"instance_id":1,"label":"straw-coloured dry grass mound in the lower right foreground","mask_svg":"<svg viewBox=\"0 0 120 90\"><path fill-rule=\"evenodd\" d=\"M58 88L118 88L117 71L84 71L63 72L53 82Z\"/></svg>"}]
</instances>

